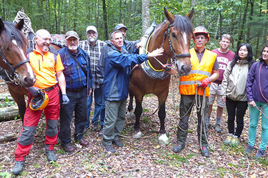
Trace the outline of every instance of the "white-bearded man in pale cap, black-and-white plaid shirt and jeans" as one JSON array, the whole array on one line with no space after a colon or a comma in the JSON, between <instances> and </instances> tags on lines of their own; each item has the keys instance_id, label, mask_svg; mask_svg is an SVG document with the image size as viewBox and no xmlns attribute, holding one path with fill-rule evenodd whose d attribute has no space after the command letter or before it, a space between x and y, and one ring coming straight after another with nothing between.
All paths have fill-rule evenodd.
<instances>
[{"instance_id":1,"label":"white-bearded man in pale cap, black-and-white plaid shirt and jeans","mask_svg":"<svg viewBox=\"0 0 268 178\"><path fill-rule=\"evenodd\" d=\"M91 120L91 124L93 125L94 131L99 131L104 125L105 103L101 85L96 78L96 66L99 63L99 58L101 56L102 49L106 43L104 41L98 40L98 31L96 30L95 26L88 26L86 28L86 38L87 40L79 41L78 43L79 48L83 49L89 54L91 60L91 71L93 76L92 95L88 97L86 127L89 127L92 97L94 96L95 109L94 117ZM51 43L61 48L66 46L65 41L61 41L55 38L51 39ZM99 135L102 135L102 130L99 132Z\"/></svg>"}]
</instances>

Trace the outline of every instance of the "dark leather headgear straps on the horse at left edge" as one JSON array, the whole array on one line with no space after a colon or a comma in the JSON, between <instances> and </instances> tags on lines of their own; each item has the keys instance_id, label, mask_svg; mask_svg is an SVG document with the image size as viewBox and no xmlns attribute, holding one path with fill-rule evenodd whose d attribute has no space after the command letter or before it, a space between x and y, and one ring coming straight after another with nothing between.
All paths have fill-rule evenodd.
<instances>
[{"instance_id":1,"label":"dark leather headgear straps on the horse at left edge","mask_svg":"<svg viewBox=\"0 0 268 178\"><path fill-rule=\"evenodd\" d=\"M0 78L2 78L5 83L15 83L16 85L19 85L20 79L19 79L18 73L16 72L16 68L19 68L19 66L21 66L22 64L29 63L30 61L29 60L21 61L20 63L16 64L16 66L13 67L11 66L9 61L6 60L6 57L4 56L4 53L1 50L1 48L0 48L0 56L2 60L4 61L4 63L6 63L6 65L9 66L10 68L10 70L4 69L5 74L1 73Z\"/></svg>"}]
</instances>

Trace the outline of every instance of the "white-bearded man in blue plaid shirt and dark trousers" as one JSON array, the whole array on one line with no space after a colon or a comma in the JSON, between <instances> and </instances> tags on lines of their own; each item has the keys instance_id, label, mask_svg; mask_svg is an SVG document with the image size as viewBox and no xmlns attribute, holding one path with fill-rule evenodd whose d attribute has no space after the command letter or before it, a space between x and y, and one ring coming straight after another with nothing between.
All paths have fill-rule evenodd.
<instances>
[{"instance_id":1,"label":"white-bearded man in blue plaid shirt and dark trousers","mask_svg":"<svg viewBox=\"0 0 268 178\"><path fill-rule=\"evenodd\" d=\"M74 113L74 140L82 146L89 145L83 139L84 127L86 125L87 99L91 95L92 74L89 55L78 47L79 36L75 31L68 31L65 36L66 47L59 50L61 62L64 66L66 80L66 95L70 102L61 107L59 119L59 138L61 147L65 152L74 152L71 145L70 123Z\"/></svg>"}]
</instances>

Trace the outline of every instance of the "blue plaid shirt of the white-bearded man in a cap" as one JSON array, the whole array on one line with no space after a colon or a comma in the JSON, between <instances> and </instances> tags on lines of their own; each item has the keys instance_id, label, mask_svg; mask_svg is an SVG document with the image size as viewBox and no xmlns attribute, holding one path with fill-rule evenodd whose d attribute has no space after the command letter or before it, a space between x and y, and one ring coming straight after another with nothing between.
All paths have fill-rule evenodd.
<instances>
[{"instance_id":1,"label":"blue plaid shirt of the white-bearded man in a cap","mask_svg":"<svg viewBox=\"0 0 268 178\"><path fill-rule=\"evenodd\" d=\"M77 53L72 53L67 47L61 48L59 51L61 56L61 62L64 65L64 76L66 80L66 89L77 90L81 88L92 87L92 74L90 68L90 58L86 51L78 48ZM70 56L74 56L76 61L79 62L80 66L77 65L76 61ZM81 69L83 68L83 70ZM89 69L89 70L88 70Z\"/></svg>"}]
</instances>

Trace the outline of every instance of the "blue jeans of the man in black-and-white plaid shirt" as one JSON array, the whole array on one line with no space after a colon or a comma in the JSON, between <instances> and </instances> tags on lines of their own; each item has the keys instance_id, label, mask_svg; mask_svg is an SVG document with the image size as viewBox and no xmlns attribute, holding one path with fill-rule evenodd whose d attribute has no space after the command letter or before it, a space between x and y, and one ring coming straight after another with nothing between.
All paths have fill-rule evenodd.
<instances>
[{"instance_id":1,"label":"blue jeans of the man in black-and-white plaid shirt","mask_svg":"<svg viewBox=\"0 0 268 178\"><path fill-rule=\"evenodd\" d=\"M105 100L104 95L102 92L102 88L96 88L92 91L91 95L87 98L87 123L86 127L89 127L90 123L90 110L92 105L92 95L94 95L94 102L95 102L95 108L94 108L94 117L91 120L91 124L97 124L98 120L100 122L100 125L104 125L104 117L105 117Z\"/></svg>"}]
</instances>

